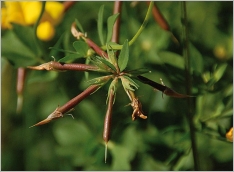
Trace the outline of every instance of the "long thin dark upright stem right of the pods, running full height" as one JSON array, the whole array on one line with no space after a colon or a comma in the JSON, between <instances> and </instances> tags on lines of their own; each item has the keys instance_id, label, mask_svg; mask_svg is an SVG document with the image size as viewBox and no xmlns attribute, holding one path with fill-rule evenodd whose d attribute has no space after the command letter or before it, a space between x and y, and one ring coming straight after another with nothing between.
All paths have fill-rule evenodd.
<instances>
[{"instance_id":1,"label":"long thin dark upright stem right of the pods, running full height","mask_svg":"<svg viewBox=\"0 0 234 172\"><path fill-rule=\"evenodd\" d=\"M187 11L186 11L186 2L182 2L182 21L183 21L183 56L185 60L185 78L186 78L186 92L188 95L191 95L191 76L190 76L190 55L189 55L189 38L188 38L188 24L187 24ZM187 98L188 112L187 119L190 127L190 139L192 144L193 151L193 160L194 160L194 170L199 170L199 159L198 159L198 150L196 143L195 135L195 126L193 123L193 106L191 98Z\"/></svg>"}]
</instances>

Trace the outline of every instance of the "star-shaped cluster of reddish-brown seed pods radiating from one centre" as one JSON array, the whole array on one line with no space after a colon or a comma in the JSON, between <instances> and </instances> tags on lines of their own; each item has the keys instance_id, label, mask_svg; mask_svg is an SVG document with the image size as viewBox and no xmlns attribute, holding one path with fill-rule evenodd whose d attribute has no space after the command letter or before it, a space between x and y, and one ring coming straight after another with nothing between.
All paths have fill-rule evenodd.
<instances>
[{"instance_id":1,"label":"star-shaped cluster of reddish-brown seed pods radiating from one centre","mask_svg":"<svg viewBox=\"0 0 234 172\"><path fill-rule=\"evenodd\" d=\"M120 13L121 10L121 1L116 1L115 2L115 8L114 8L114 13ZM170 30L169 25L167 24L166 20L163 18L162 14L159 12L158 8L154 5L153 6L153 15L155 17L155 20L159 23L159 25L164 29L164 30ZM113 29L113 37L112 37L112 42L118 42L119 38L119 23L120 23L120 18L117 19L114 29ZM84 33L79 32L76 29L75 23L71 25L71 33L72 35L77 38L77 39L83 39L87 45L94 50L96 54L103 58L109 58L108 54L101 49L98 45L96 45L90 38L87 38ZM66 70L73 70L73 71L99 71L99 68L95 65L87 65L87 64L78 64L78 63L72 63L72 64L66 64L66 63L60 63L56 61L50 61L48 63L41 64L39 66L29 66L29 69L33 70L55 70L55 71L66 71ZM113 79L118 79L118 75L121 75L120 73L116 75ZM22 78L22 77L21 77ZM109 79L109 78L107 78ZM184 94L179 94L172 89L168 88L164 84L159 84L156 83L144 76L137 76L135 79L139 80L143 84L147 84L159 91L161 91L163 94L166 94L168 96L176 97L176 98L186 98L190 97L188 95ZM41 122L31 126L39 126L43 125L46 123L51 122L54 119L58 119L64 116L64 114L68 113L71 111L78 103L80 103L82 100L84 100L86 97L94 93L96 90L98 90L102 85L101 84L93 84L90 85L87 89L85 89L82 93L65 103L61 107L57 107L46 119L42 120ZM21 87L19 87L19 90L22 90ZM140 100L135 96L134 92L132 90L125 90L131 103L130 105L133 108L133 113L132 113L132 120L134 121L136 118L140 117L142 119L146 119L147 116L143 114L142 110L142 104ZM106 144L106 150L107 150L107 143L110 139L110 131L111 131L111 116L112 116L112 107L114 104L114 99L115 99L115 90L110 89L109 95L108 95L108 103L107 103L107 111L104 119L104 129L103 129L103 140ZM106 153L105 153L105 161L106 161Z\"/></svg>"}]
</instances>

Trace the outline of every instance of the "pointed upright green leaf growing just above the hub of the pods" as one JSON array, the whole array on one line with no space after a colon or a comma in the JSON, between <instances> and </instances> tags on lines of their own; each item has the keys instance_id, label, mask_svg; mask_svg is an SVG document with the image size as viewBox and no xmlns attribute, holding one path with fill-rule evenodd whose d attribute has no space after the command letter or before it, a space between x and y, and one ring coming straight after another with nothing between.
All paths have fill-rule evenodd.
<instances>
[{"instance_id":1,"label":"pointed upright green leaf growing just above the hub of the pods","mask_svg":"<svg viewBox=\"0 0 234 172\"><path fill-rule=\"evenodd\" d=\"M118 66L120 72L122 72L126 68L128 64L128 58L129 58L129 48L128 48L128 40L126 39L118 58Z\"/></svg>"}]
</instances>

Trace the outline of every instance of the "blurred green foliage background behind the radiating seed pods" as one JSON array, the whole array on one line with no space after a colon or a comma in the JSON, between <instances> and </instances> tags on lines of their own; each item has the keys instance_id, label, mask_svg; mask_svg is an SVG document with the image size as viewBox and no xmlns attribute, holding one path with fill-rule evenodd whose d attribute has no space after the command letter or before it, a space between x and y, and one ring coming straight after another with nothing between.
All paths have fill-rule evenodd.
<instances>
[{"instance_id":1,"label":"blurred green foliage background behind the radiating seed pods","mask_svg":"<svg viewBox=\"0 0 234 172\"><path fill-rule=\"evenodd\" d=\"M97 14L105 4L104 18L114 2L77 2L57 26L53 40L42 42L44 60L51 61L49 47L64 33L62 48L72 49L70 25L77 18L89 38L100 45ZM182 42L181 2L155 2ZM194 123L200 170L233 170L233 144L225 138L233 126L233 2L186 2L189 30ZM123 2L120 44L131 39L142 24L147 4ZM106 20L105 20L106 23ZM81 72L27 71L22 112L16 113L17 67L11 53L20 40L2 31L1 58L1 170L193 170L186 99L167 97L137 82L136 95L146 120L131 120L132 108L122 87L113 107L111 140L104 162L103 122L108 85L72 112L49 124L29 127L46 118L58 105L81 93L88 84ZM10 35L10 36L9 36ZM19 43L17 43L17 41ZM20 53L27 54L19 49ZM7 53L6 53L7 52ZM153 16L130 46L128 69L148 68L144 76L186 94L182 45L160 28ZM52 54L53 55L53 54ZM63 53L57 53L56 60ZM15 59L14 59L15 58ZM13 60L7 60L13 59ZM18 59L20 60L20 59ZM84 59L76 62L83 63ZM30 65L38 65L33 60ZM95 75L96 76L96 75ZM92 75L90 76L92 77Z\"/></svg>"}]
</instances>

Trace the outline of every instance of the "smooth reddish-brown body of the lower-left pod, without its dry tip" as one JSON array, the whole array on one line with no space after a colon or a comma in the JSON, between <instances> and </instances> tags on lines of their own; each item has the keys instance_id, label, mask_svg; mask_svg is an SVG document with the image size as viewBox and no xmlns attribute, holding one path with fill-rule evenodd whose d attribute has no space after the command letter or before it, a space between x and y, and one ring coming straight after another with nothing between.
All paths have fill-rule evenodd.
<instances>
[{"instance_id":1,"label":"smooth reddish-brown body of the lower-left pod, without its dry tip","mask_svg":"<svg viewBox=\"0 0 234 172\"><path fill-rule=\"evenodd\" d=\"M86 90L84 90L82 93L80 93L78 96L74 97L70 101L68 101L65 105L58 107L57 111L61 113L66 113L69 110L71 110L74 106L76 106L78 103L80 103L82 100L84 100L87 96L95 92L100 85L91 85Z\"/></svg>"}]
</instances>

